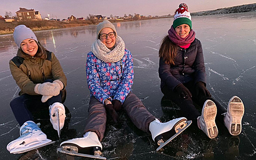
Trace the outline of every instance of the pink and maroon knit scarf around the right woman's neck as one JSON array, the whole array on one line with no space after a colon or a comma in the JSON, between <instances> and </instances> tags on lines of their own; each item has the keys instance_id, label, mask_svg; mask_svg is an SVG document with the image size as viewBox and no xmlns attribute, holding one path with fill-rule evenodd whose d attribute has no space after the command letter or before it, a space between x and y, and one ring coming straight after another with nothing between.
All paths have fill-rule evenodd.
<instances>
[{"instance_id":1,"label":"pink and maroon knit scarf around the right woman's neck","mask_svg":"<svg viewBox=\"0 0 256 160\"><path fill-rule=\"evenodd\" d=\"M170 38L170 40L175 43L178 46L185 46L188 43L192 43L195 40L195 36L196 36L196 32L194 32L192 29L190 30L189 34L187 35L187 37L182 38L180 37L174 27L171 25L171 29L169 29L168 31L168 37Z\"/></svg>"}]
</instances>

